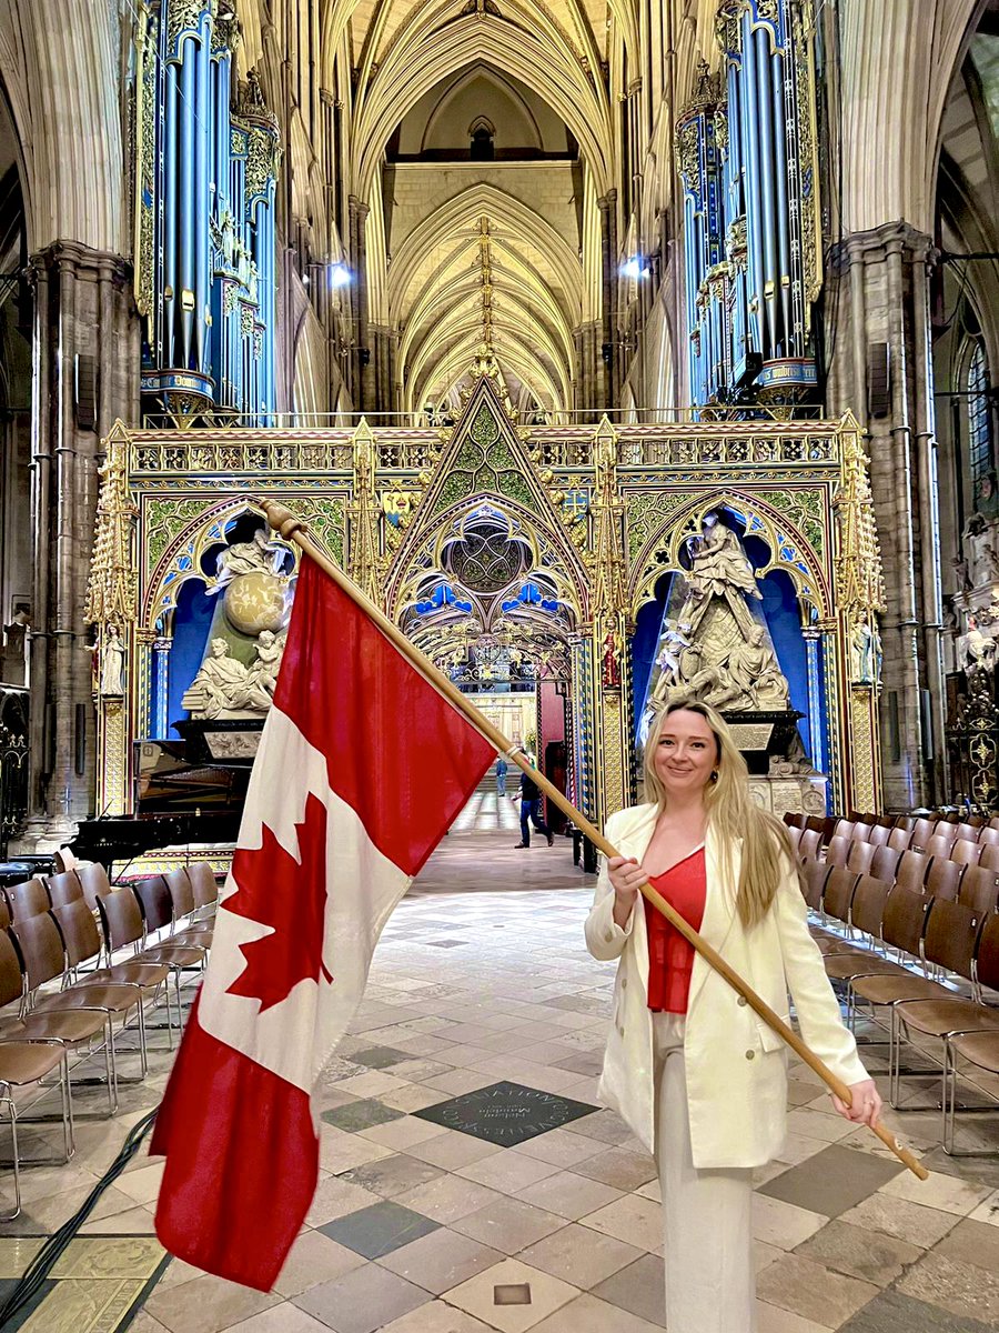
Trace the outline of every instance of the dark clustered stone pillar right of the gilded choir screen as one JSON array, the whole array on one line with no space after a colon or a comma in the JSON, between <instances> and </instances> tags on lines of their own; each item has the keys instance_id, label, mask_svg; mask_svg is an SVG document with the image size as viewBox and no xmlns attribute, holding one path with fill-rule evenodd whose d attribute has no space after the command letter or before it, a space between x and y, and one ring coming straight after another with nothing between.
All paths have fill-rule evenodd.
<instances>
[{"instance_id":1,"label":"dark clustered stone pillar right of the gilded choir screen","mask_svg":"<svg viewBox=\"0 0 999 1333\"><path fill-rule=\"evenodd\" d=\"M946 798L943 657L936 439L930 360L930 237L892 223L847 237L830 271L838 317L827 399L851 411L870 456L887 611L882 617L884 702L880 709L884 804ZM868 365L884 364L887 395L875 401Z\"/></svg>"}]
</instances>

